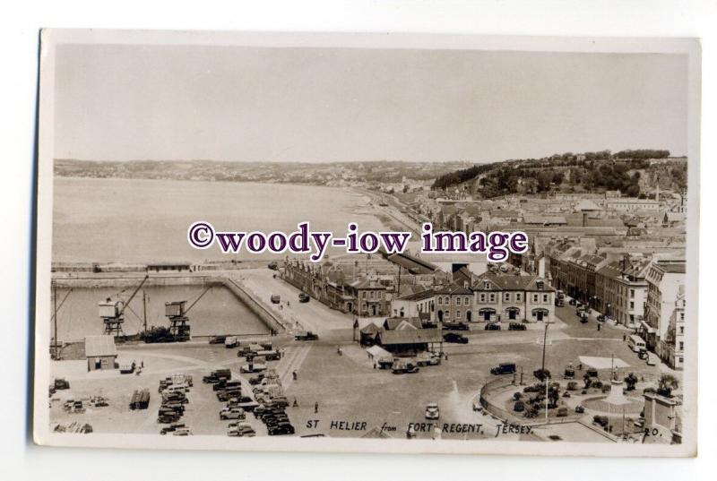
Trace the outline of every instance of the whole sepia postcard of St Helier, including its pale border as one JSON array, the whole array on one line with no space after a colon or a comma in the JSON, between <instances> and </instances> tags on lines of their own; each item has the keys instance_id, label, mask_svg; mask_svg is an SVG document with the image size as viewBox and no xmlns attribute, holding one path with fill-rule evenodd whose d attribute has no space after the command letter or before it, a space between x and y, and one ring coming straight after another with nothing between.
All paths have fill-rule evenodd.
<instances>
[{"instance_id":1,"label":"whole sepia postcard of St Helier, including its pale border","mask_svg":"<svg viewBox=\"0 0 717 481\"><path fill-rule=\"evenodd\" d=\"M43 30L34 439L695 456L696 39Z\"/></svg>"}]
</instances>

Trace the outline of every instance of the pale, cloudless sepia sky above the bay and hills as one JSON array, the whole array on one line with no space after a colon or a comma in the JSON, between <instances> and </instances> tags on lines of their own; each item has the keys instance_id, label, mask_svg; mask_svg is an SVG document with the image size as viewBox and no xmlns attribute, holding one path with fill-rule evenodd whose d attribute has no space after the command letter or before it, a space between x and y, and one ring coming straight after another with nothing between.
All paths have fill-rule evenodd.
<instances>
[{"instance_id":1,"label":"pale, cloudless sepia sky above the bay and hills","mask_svg":"<svg viewBox=\"0 0 717 481\"><path fill-rule=\"evenodd\" d=\"M687 153L687 56L58 45L56 159Z\"/></svg>"}]
</instances>

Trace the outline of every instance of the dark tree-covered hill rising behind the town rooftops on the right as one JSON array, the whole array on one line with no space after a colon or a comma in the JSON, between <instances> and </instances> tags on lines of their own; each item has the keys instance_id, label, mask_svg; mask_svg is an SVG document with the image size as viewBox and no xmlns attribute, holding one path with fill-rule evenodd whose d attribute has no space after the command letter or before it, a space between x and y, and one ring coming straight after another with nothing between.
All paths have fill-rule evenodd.
<instances>
[{"instance_id":1,"label":"dark tree-covered hill rising behind the town rooftops on the right","mask_svg":"<svg viewBox=\"0 0 717 481\"><path fill-rule=\"evenodd\" d=\"M510 159L456 170L436 178L436 190L459 188L485 198L509 193L605 192L637 196L656 185L687 188L687 159L669 150L566 152L542 159Z\"/></svg>"}]
</instances>

